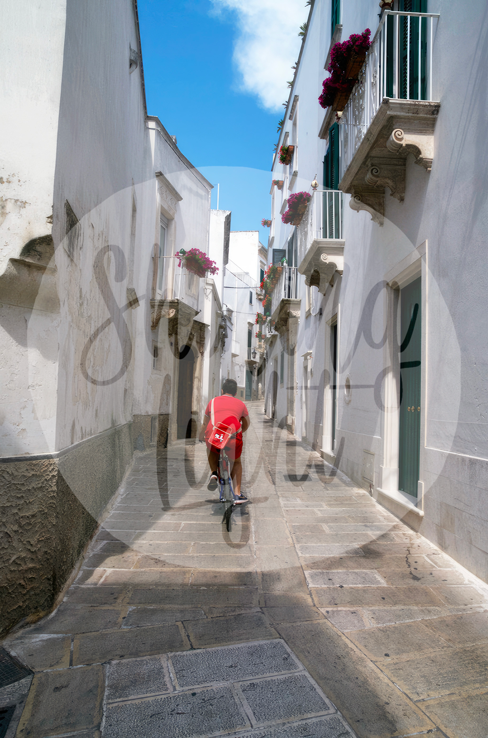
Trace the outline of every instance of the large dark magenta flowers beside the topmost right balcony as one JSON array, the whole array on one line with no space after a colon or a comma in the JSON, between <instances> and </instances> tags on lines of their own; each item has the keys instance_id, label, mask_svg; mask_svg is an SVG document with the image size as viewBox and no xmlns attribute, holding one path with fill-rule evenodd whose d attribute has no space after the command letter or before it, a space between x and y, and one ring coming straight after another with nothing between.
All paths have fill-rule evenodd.
<instances>
[{"instance_id":1,"label":"large dark magenta flowers beside the topmost right balcony","mask_svg":"<svg viewBox=\"0 0 488 738\"><path fill-rule=\"evenodd\" d=\"M371 46L371 31L366 28L362 33L352 33L347 41L340 41L331 48L331 61L327 72L331 76L323 80L322 94L319 103L323 108L334 107L343 110L351 95L366 54Z\"/></svg>"}]
</instances>

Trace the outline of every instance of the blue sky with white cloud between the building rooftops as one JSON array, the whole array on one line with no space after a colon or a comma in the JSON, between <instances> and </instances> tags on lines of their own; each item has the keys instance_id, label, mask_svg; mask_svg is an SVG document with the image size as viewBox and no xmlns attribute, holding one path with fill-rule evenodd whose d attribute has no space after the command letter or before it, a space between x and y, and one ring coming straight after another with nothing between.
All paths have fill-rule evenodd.
<instances>
[{"instance_id":1,"label":"blue sky with white cloud between the building rooftops","mask_svg":"<svg viewBox=\"0 0 488 738\"><path fill-rule=\"evenodd\" d=\"M220 184L219 207L233 211L232 230L259 230L267 244L261 218L270 215L272 151L284 110L279 101L288 95L289 66L300 48L297 18L303 22L307 13L304 0L264 4L261 11L262 0L140 0L138 8L148 113L212 184ZM267 11L279 22L278 8L287 4L289 41L278 38L285 49L278 53L252 34L263 32Z\"/></svg>"}]
</instances>

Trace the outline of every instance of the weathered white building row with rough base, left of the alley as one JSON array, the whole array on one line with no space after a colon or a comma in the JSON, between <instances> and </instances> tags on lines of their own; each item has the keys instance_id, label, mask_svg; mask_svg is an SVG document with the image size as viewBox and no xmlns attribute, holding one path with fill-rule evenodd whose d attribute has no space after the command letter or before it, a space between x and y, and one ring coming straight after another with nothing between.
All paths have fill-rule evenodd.
<instances>
[{"instance_id":1,"label":"weathered white building row with rough base, left of the alley","mask_svg":"<svg viewBox=\"0 0 488 738\"><path fill-rule=\"evenodd\" d=\"M52 607L134 449L195 438L228 252L175 257L209 254L212 185L147 114L135 2L7 1L2 32L0 630Z\"/></svg>"}]
</instances>

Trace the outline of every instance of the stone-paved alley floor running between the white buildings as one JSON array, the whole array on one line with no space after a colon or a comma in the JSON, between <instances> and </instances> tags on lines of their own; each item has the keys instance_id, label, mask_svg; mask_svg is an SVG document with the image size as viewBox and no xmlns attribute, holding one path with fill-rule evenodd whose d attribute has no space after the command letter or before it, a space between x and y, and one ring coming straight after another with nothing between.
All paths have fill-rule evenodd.
<instances>
[{"instance_id":1,"label":"stone-paved alley floor running between the white buildings","mask_svg":"<svg viewBox=\"0 0 488 738\"><path fill-rule=\"evenodd\" d=\"M230 534L204 446L136 456L61 606L3 644L34 672L16 736L487 738L487 586L250 414Z\"/></svg>"}]
</instances>

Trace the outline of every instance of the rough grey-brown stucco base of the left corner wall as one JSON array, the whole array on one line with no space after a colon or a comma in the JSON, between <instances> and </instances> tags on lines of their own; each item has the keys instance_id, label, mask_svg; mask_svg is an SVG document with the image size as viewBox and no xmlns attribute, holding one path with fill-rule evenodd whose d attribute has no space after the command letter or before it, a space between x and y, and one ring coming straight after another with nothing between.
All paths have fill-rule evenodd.
<instances>
[{"instance_id":1,"label":"rough grey-brown stucco base of the left corner wall","mask_svg":"<svg viewBox=\"0 0 488 738\"><path fill-rule=\"evenodd\" d=\"M131 455L127 424L59 458L0 463L0 636L55 604Z\"/></svg>"}]
</instances>

